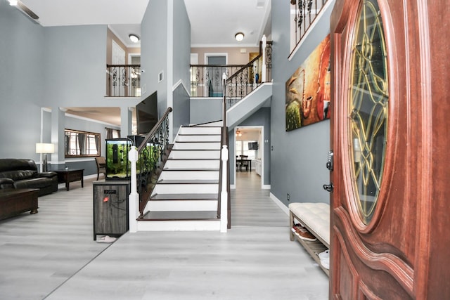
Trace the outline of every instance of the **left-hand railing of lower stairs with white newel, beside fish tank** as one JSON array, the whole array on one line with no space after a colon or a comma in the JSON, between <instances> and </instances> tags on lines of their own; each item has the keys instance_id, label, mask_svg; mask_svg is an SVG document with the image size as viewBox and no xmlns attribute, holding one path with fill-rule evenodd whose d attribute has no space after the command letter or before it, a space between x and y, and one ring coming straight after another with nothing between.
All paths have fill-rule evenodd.
<instances>
[{"instance_id":1,"label":"left-hand railing of lower stairs with white newel, beside fish tank","mask_svg":"<svg viewBox=\"0 0 450 300\"><path fill-rule=\"evenodd\" d=\"M129 160L131 162L131 193L129 195L129 230L137 231L136 219L142 218L144 209L150 200L161 169L167 160L169 145L169 113L168 107L164 115L153 126L138 148L131 146ZM136 227L134 227L136 226ZM135 231L132 231L135 230Z\"/></svg>"}]
</instances>

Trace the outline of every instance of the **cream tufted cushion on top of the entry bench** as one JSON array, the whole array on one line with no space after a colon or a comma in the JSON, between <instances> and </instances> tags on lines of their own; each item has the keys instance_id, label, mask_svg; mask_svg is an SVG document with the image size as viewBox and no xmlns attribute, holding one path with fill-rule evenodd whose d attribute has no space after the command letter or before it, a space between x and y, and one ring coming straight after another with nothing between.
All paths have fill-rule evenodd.
<instances>
[{"instance_id":1,"label":"cream tufted cushion on top of the entry bench","mask_svg":"<svg viewBox=\"0 0 450 300\"><path fill-rule=\"evenodd\" d=\"M330 205L326 203L290 203L289 210L302 225L314 230L316 236L330 245Z\"/></svg>"}]
</instances>

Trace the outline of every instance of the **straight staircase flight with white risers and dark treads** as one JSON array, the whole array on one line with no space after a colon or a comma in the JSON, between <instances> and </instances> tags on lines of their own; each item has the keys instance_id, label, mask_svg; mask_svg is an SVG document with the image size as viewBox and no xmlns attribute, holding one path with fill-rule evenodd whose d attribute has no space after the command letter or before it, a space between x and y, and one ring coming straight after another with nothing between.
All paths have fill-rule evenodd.
<instances>
[{"instance_id":1,"label":"straight staircase flight with white risers and dark treads","mask_svg":"<svg viewBox=\"0 0 450 300\"><path fill-rule=\"evenodd\" d=\"M181 127L138 230L220 230L220 126Z\"/></svg>"}]
</instances>

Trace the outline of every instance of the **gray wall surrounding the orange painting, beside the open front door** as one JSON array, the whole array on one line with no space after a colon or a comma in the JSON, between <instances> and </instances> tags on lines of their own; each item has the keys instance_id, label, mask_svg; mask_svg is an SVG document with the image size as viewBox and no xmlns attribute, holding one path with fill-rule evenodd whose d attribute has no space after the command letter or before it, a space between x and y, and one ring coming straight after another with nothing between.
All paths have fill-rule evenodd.
<instances>
[{"instance_id":1,"label":"gray wall surrounding the orange painting, beside the open front door","mask_svg":"<svg viewBox=\"0 0 450 300\"><path fill-rule=\"evenodd\" d=\"M322 188L329 182L325 164L330 148L330 122L326 120L286 132L285 82L330 32L332 8L333 5L324 12L319 24L288 60L290 3L272 1L271 194L286 205L288 193L290 202L329 202L330 199Z\"/></svg>"}]
</instances>

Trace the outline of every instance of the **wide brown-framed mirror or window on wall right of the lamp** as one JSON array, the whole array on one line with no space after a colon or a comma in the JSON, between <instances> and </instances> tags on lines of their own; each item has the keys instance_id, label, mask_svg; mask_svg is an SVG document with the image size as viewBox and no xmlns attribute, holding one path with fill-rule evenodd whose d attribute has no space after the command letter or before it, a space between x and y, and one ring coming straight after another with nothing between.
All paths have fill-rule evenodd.
<instances>
[{"instance_id":1,"label":"wide brown-framed mirror or window on wall right of the lamp","mask_svg":"<svg viewBox=\"0 0 450 300\"><path fill-rule=\"evenodd\" d=\"M100 133L65 129L65 157L100 156Z\"/></svg>"}]
</instances>

